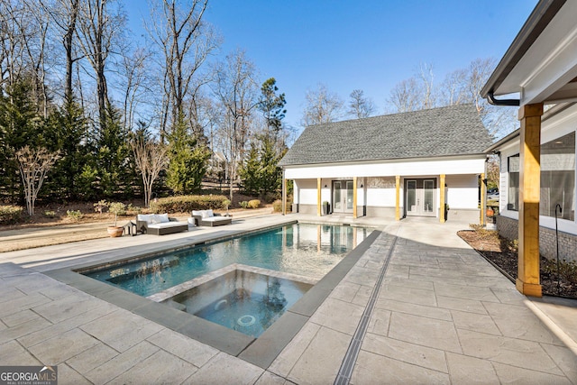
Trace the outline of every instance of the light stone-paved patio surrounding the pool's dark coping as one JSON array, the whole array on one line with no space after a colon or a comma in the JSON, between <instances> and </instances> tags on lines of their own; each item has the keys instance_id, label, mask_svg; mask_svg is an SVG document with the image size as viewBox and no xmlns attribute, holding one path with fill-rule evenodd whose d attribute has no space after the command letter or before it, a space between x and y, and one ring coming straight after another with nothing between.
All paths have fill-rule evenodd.
<instances>
[{"instance_id":1,"label":"light stone-paved patio surrounding the pool's dark coping","mask_svg":"<svg viewBox=\"0 0 577 385\"><path fill-rule=\"evenodd\" d=\"M44 274L294 220L382 232L264 368ZM61 384L577 383L577 301L519 294L456 235L467 224L224 227L0 253L0 365L56 364Z\"/></svg>"}]
</instances>

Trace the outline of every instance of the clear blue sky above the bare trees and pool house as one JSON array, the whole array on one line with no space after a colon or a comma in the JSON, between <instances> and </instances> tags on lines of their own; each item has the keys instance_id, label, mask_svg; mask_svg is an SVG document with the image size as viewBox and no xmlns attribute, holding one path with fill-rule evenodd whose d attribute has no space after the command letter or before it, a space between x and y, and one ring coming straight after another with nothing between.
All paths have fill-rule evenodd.
<instances>
[{"instance_id":1,"label":"clear blue sky above the bare trees and pool house","mask_svg":"<svg viewBox=\"0 0 577 385\"><path fill-rule=\"evenodd\" d=\"M131 28L142 0L126 0ZM500 60L537 0L212 0L206 21L223 37L217 53L236 49L276 78L287 99L285 123L298 132L307 90L319 83L344 101L362 89L378 114L390 90L433 66L435 81L477 58ZM140 33L139 33L140 34ZM217 59L217 58L216 58Z\"/></svg>"}]
</instances>

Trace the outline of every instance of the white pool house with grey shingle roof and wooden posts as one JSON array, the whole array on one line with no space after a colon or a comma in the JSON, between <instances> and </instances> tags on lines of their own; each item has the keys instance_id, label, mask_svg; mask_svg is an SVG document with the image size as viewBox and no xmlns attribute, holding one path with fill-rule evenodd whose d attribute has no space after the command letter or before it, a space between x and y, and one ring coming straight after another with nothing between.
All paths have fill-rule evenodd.
<instances>
[{"instance_id":1,"label":"white pool house with grey shingle roof and wooden posts","mask_svg":"<svg viewBox=\"0 0 577 385\"><path fill-rule=\"evenodd\" d=\"M279 162L283 192L298 213L479 223L490 144L474 105L316 124Z\"/></svg>"}]
</instances>

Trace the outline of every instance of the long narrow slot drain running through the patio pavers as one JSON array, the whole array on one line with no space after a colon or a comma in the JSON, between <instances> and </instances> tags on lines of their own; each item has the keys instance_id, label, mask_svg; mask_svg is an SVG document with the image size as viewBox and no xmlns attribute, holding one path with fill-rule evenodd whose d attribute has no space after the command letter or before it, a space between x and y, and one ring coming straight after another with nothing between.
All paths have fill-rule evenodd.
<instances>
[{"instance_id":1,"label":"long narrow slot drain running through the patio pavers","mask_svg":"<svg viewBox=\"0 0 577 385\"><path fill-rule=\"evenodd\" d=\"M395 245L397 243L398 237L396 235L393 236L393 241L390 243L389 252L383 261L382 267L380 268L379 277L375 286L371 292L371 298L369 299L369 303L367 307L365 307L364 312L362 313L361 320L359 321L359 325L357 325L357 329L354 332L353 340L349 345L346 353L344 354L343 363L341 364L341 368L334 380L334 385L346 385L351 380L353 376L353 369L354 364L357 361L357 357L359 355L359 351L361 350L362 340L364 339L364 335L367 333L367 329L369 328L369 320L371 319L372 310L377 302L377 297L379 296L380 287L382 285L382 281L385 278L385 274L387 273L387 269L389 268L389 261L390 257L395 250Z\"/></svg>"}]
</instances>

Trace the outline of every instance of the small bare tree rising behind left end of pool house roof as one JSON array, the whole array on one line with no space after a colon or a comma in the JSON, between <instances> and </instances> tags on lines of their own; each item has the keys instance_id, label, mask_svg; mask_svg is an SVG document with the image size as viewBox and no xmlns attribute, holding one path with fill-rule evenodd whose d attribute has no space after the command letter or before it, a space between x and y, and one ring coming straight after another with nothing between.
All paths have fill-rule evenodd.
<instances>
[{"instance_id":1,"label":"small bare tree rising behind left end of pool house roof","mask_svg":"<svg viewBox=\"0 0 577 385\"><path fill-rule=\"evenodd\" d=\"M328 90L324 84L318 84L315 90L307 91L307 105L303 111L301 124L331 123L343 115L343 99Z\"/></svg>"}]
</instances>

